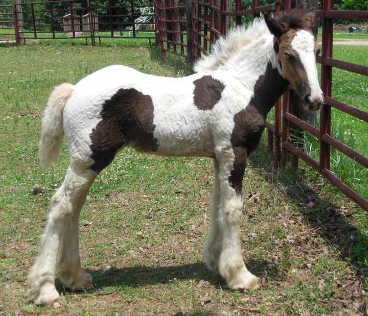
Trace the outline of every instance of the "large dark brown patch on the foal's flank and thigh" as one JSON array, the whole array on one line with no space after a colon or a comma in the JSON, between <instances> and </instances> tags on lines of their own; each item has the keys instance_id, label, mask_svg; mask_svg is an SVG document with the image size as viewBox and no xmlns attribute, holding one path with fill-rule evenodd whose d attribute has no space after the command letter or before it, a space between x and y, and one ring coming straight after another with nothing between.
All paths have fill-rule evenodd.
<instances>
[{"instance_id":1,"label":"large dark brown patch on the foal's flank and thigh","mask_svg":"<svg viewBox=\"0 0 368 316\"><path fill-rule=\"evenodd\" d=\"M102 120L92 130L91 169L100 172L107 167L124 145L144 152L158 148L153 137L153 103L149 95L135 89L120 89L102 105Z\"/></svg>"}]
</instances>

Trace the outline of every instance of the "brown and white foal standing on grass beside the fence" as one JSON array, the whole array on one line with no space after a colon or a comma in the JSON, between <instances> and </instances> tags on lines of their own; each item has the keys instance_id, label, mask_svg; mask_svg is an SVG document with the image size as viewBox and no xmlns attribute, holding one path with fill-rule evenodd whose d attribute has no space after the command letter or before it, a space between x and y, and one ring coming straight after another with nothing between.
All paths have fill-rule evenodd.
<instances>
[{"instance_id":1,"label":"brown and white foal standing on grass beside the fence","mask_svg":"<svg viewBox=\"0 0 368 316\"><path fill-rule=\"evenodd\" d=\"M36 304L59 300L57 276L72 290L93 287L81 266L78 219L90 185L119 150L213 158L206 265L233 289L255 288L239 240L242 180L267 113L291 87L310 110L323 101L317 79L314 12L292 11L238 28L185 78L109 66L52 92L42 119L40 161L58 158L65 135L71 162L51 199L41 249L29 274Z\"/></svg>"}]
</instances>

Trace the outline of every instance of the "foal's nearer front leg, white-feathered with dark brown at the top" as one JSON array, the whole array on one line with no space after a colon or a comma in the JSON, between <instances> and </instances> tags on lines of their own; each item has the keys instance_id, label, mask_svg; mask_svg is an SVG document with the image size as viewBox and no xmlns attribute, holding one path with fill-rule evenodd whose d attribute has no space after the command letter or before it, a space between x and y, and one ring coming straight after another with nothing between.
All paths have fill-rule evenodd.
<instances>
[{"instance_id":1,"label":"foal's nearer front leg, white-feathered with dark brown at the top","mask_svg":"<svg viewBox=\"0 0 368 316\"><path fill-rule=\"evenodd\" d=\"M221 254L218 268L227 285L233 289L256 288L258 278L245 267L239 230L243 211L241 188L246 165L246 149L233 148L219 154Z\"/></svg>"}]
</instances>

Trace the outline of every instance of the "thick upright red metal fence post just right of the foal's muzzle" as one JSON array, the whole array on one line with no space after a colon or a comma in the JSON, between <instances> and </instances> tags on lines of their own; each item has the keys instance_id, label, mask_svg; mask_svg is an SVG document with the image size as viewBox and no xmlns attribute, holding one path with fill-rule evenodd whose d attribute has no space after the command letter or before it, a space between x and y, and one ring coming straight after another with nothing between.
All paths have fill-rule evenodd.
<instances>
[{"instance_id":1,"label":"thick upright red metal fence post just right of the foal's muzzle","mask_svg":"<svg viewBox=\"0 0 368 316\"><path fill-rule=\"evenodd\" d=\"M333 10L334 0L325 0L324 12ZM322 22L322 59L332 58L333 19L323 16ZM332 67L322 64L321 88L326 96L331 96ZM330 169L330 145L321 138L323 134L331 134L331 107L324 105L320 111L320 141L319 165L320 169Z\"/></svg>"}]
</instances>

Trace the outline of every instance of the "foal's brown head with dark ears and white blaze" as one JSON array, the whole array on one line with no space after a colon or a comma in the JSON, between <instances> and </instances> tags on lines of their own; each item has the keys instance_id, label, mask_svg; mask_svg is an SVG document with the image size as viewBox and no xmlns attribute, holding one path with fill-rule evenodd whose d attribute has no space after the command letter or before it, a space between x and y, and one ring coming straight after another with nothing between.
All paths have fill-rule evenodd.
<instances>
[{"instance_id":1,"label":"foal's brown head with dark ears and white blaze","mask_svg":"<svg viewBox=\"0 0 368 316\"><path fill-rule=\"evenodd\" d=\"M277 18L265 14L267 27L274 35L279 70L310 111L318 110L323 102L316 66L319 50L312 34L314 20L314 11L292 10Z\"/></svg>"}]
</instances>

